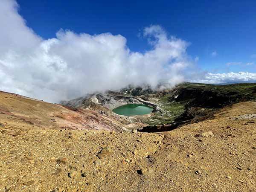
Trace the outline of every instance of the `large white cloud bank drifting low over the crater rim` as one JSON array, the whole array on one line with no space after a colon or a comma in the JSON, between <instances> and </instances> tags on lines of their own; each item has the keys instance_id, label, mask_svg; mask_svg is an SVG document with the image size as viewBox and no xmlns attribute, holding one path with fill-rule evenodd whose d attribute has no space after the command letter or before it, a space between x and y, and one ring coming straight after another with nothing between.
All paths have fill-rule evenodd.
<instances>
[{"instance_id":1,"label":"large white cloud bank drifting low over the crater rim","mask_svg":"<svg viewBox=\"0 0 256 192\"><path fill-rule=\"evenodd\" d=\"M144 29L152 49L132 52L125 37L111 33L60 30L44 40L17 8L15 0L0 0L0 90L58 102L128 84L184 80L188 43L169 38L161 26Z\"/></svg>"}]
</instances>

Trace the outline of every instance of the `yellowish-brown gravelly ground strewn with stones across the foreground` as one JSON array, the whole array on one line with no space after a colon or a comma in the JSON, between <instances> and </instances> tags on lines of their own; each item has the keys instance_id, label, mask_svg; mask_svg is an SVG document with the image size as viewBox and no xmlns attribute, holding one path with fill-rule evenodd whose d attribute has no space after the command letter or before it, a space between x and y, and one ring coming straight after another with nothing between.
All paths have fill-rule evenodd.
<instances>
[{"instance_id":1,"label":"yellowish-brown gravelly ground strewn with stones across the foreground","mask_svg":"<svg viewBox=\"0 0 256 192\"><path fill-rule=\"evenodd\" d=\"M10 126L1 109L0 192L256 191L256 102L160 133Z\"/></svg>"}]
</instances>

